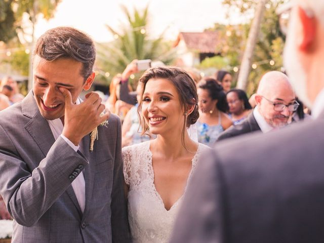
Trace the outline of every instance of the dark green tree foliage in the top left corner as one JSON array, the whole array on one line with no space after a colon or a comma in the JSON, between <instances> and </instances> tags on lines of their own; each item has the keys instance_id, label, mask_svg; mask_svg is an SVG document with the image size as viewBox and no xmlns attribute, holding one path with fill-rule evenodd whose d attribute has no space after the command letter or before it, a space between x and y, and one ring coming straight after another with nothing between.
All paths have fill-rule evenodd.
<instances>
[{"instance_id":1,"label":"dark green tree foliage in the top left corner","mask_svg":"<svg viewBox=\"0 0 324 243\"><path fill-rule=\"evenodd\" d=\"M5 43L16 36L15 16L11 4L12 0L0 0L0 41Z\"/></svg>"}]
</instances>

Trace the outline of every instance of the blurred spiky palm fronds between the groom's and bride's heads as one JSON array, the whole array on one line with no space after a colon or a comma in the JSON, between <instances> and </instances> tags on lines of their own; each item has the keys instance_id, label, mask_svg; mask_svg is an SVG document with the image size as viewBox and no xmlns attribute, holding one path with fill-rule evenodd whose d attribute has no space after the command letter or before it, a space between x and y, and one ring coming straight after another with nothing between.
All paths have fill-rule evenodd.
<instances>
[{"instance_id":1,"label":"blurred spiky palm fronds between the groom's and bride's heads","mask_svg":"<svg viewBox=\"0 0 324 243\"><path fill-rule=\"evenodd\" d=\"M127 17L127 25L119 31L107 26L115 40L108 44L97 44L97 67L109 72L109 79L117 73L123 72L126 66L134 59L159 60L170 64L174 59L171 43L167 43L161 34L156 39L150 39L147 33L148 6L134 13L122 6Z\"/></svg>"}]
</instances>

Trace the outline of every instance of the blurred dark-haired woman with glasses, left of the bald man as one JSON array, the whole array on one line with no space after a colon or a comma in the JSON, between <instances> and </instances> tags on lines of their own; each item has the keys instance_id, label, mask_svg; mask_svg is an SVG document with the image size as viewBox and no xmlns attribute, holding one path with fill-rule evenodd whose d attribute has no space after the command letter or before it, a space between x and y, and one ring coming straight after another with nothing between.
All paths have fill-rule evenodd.
<instances>
[{"instance_id":1,"label":"blurred dark-haired woman with glasses, left of the bald man","mask_svg":"<svg viewBox=\"0 0 324 243\"><path fill-rule=\"evenodd\" d=\"M229 117L232 119L233 125L241 123L252 110L252 106L244 90L231 89L226 94L226 100L229 107Z\"/></svg>"}]
</instances>

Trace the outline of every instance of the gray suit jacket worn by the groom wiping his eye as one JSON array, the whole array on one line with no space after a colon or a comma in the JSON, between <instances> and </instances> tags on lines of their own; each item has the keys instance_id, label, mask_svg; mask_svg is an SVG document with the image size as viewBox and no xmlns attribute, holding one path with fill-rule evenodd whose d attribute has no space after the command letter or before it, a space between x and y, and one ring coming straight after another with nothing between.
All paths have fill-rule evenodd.
<instances>
[{"instance_id":1,"label":"gray suit jacket worn by the groom wiping his eye","mask_svg":"<svg viewBox=\"0 0 324 243\"><path fill-rule=\"evenodd\" d=\"M30 92L0 112L0 193L14 218L12 242L129 242L120 121L110 115L89 152L56 141ZM82 213L71 186L84 172Z\"/></svg>"}]
</instances>

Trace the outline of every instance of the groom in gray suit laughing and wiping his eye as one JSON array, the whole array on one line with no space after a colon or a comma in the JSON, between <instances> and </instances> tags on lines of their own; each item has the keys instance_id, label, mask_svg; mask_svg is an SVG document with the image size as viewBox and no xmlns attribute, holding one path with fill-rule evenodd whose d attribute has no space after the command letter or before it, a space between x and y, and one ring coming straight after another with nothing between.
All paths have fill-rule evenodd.
<instances>
[{"instance_id":1,"label":"groom in gray suit laughing and wiping his eye","mask_svg":"<svg viewBox=\"0 0 324 243\"><path fill-rule=\"evenodd\" d=\"M33 55L33 88L0 112L0 193L12 242L129 242L121 125L89 90L96 51L69 27L47 31ZM98 140L90 152L90 133Z\"/></svg>"}]
</instances>

